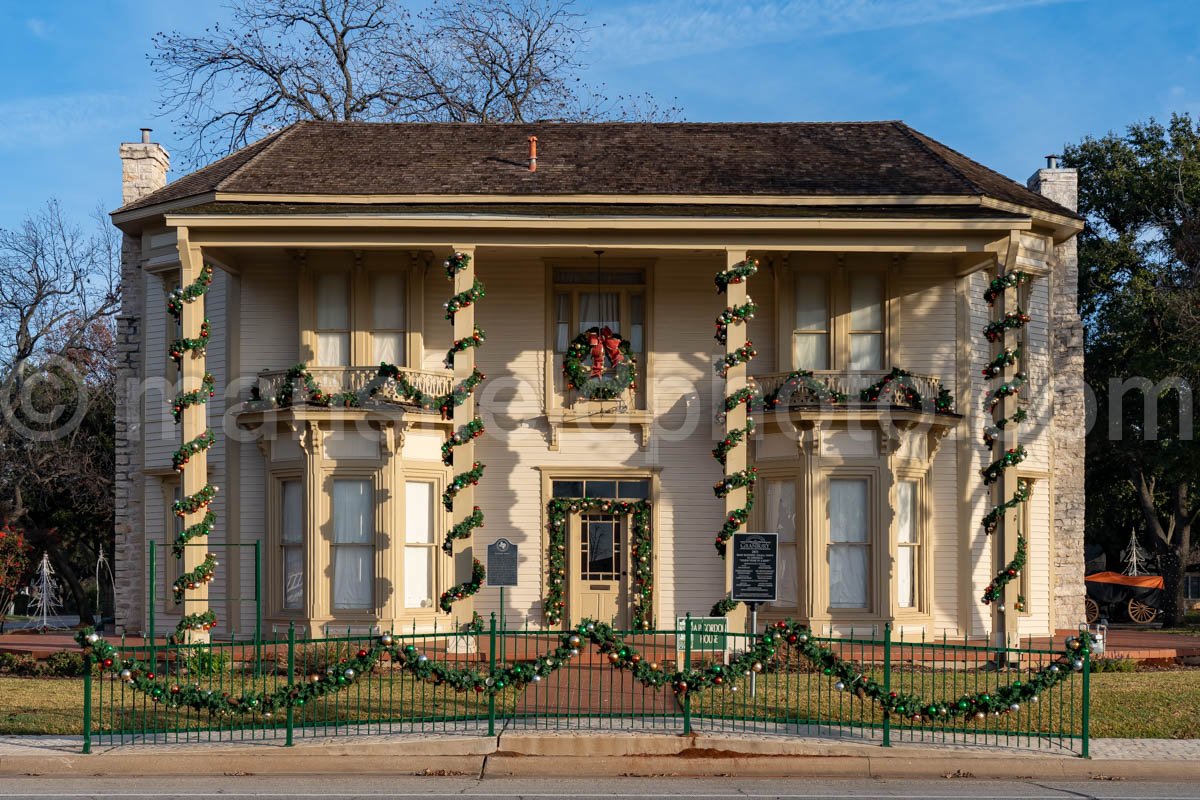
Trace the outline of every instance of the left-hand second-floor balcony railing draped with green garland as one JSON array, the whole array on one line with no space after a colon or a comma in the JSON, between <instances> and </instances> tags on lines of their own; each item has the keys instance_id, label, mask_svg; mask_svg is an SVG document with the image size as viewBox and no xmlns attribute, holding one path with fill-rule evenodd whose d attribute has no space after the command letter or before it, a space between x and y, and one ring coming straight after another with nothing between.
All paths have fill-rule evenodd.
<instances>
[{"instance_id":1,"label":"left-hand second-floor balcony railing draped with green garland","mask_svg":"<svg viewBox=\"0 0 1200 800\"><path fill-rule=\"evenodd\" d=\"M275 405L300 405L313 402L308 381L302 377L292 374L288 369L268 369L258 373L254 387L257 397L265 403ZM370 398L385 403L397 403L401 405L418 407L412 397L397 391L397 384L392 380L379 379L379 367L307 367L307 375L312 384L325 397L331 397L332 405L347 405L343 398L354 396L356 403L366 402ZM444 371L400 368L403 380L412 387L419 390L428 397L442 397L450 393L454 384L454 375ZM286 386L292 385L290 403L280 403L278 398L286 396ZM372 395L371 389L377 390ZM281 396L281 391L283 395Z\"/></svg>"}]
</instances>

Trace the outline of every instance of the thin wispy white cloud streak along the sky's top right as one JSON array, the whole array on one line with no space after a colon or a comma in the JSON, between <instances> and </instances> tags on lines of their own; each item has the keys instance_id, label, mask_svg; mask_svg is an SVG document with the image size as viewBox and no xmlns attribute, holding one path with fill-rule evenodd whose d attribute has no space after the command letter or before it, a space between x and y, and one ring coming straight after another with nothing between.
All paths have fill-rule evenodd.
<instances>
[{"instance_id":1,"label":"thin wispy white cloud streak along the sky's top right","mask_svg":"<svg viewBox=\"0 0 1200 800\"><path fill-rule=\"evenodd\" d=\"M593 17L594 54L624 64L758 49L803 37L902 28L1070 0L650 0ZM731 65L734 66L734 65Z\"/></svg>"}]
</instances>

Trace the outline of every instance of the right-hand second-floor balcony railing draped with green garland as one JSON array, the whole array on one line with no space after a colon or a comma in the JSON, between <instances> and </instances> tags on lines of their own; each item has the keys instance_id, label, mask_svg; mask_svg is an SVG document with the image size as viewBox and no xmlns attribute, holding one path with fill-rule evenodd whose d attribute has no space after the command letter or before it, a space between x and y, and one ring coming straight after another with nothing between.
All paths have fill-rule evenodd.
<instances>
[{"instance_id":1,"label":"right-hand second-floor balcony railing draped with green garland","mask_svg":"<svg viewBox=\"0 0 1200 800\"><path fill-rule=\"evenodd\" d=\"M889 372L815 371L751 375L766 410L902 409L953 414L954 398L934 375Z\"/></svg>"}]
</instances>

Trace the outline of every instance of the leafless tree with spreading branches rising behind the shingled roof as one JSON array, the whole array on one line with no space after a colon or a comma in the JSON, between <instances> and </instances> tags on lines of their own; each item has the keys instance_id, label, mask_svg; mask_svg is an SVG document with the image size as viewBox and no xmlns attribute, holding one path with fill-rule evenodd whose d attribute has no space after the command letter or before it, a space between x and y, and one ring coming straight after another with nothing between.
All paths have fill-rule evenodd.
<instances>
[{"instance_id":1,"label":"leafless tree with spreading branches rising behind the shingled roof","mask_svg":"<svg viewBox=\"0 0 1200 800\"><path fill-rule=\"evenodd\" d=\"M223 155L296 120L509 122L673 119L650 95L582 79L574 0L238 0L229 28L154 37L162 113L185 157Z\"/></svg>"}]
</instances>

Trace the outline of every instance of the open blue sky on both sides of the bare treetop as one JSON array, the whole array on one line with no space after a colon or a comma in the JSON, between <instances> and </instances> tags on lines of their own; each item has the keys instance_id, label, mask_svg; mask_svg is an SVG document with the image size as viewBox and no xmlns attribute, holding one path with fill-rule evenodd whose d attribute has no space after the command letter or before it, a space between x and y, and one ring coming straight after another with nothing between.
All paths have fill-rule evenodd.
<instances>
[{"instance_id":1,"label":"open blue sky on both sides of the bare treetop","mask_svg":"<svg viewBox=\"0 0 1200 800\"><path fill-rule=\"evenodd\" d=\"M1018 180L1064 142L1200 114L1192 0L581 0L588 78L689 120L902 119ZM0 227L54 197L120 200L120 142L156 116L158 30L212 0L0 0ZM178 175L173 175L178 176Z\"/></svg>"}]
</instances>

